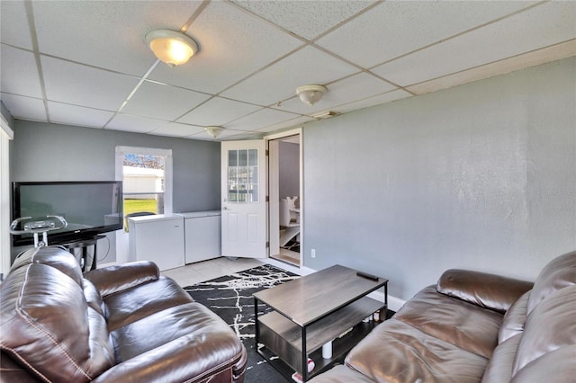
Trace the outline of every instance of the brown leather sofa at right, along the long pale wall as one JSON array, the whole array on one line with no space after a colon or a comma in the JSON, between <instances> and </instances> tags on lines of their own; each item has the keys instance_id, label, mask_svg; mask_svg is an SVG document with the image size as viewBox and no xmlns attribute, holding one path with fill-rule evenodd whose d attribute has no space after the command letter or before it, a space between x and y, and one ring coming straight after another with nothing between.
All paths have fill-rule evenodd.
<instances>
[{"instance_id":1,"label":"brown leather sofa at right, along the long pale wall","mask_svg":"<svg viewBox=\"0 0 576 383\"><path fill-rule=\"evenodd\" d=\"M450 270L411 298L324 382L576 381L576 252L534 284Z\"/></svg>"}]
</instances>

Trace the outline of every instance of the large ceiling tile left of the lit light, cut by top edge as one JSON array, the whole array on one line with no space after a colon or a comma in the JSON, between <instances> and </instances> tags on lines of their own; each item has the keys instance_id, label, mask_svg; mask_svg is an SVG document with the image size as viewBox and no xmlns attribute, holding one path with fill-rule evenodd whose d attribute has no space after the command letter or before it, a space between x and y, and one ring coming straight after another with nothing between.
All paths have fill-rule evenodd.
<instances>
[{"instance_id":1,"label":"large ceiling tile left of the lit light, cut by top edge","mask_svg":"<svg viewBox=\"0 0 576 383\"><path fill-rule=\"evenodd\" d=\"M32 4L40 52L142 76L156 61L144 41L146 33L156 28L179 30L201 3L38 1Z\"/></svg>"}]
</instances>

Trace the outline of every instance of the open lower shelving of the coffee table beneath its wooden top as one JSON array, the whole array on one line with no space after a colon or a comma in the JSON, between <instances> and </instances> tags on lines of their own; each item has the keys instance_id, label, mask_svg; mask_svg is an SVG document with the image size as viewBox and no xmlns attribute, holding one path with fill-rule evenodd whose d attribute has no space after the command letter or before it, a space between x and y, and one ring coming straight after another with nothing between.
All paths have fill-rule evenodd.
<instances>
[{"instance_id":1,"label":"open lower shelving of the coffee table beneath its wooden top","mask_svg":"<svg viewBox=\"0 0 576 383\"><path fill-rule=\"evenodd\" d=\"M386 305L372 298L360 298L337 311L330 313L305 328L306 352L302 351L302 327L290 319L272 311L257 318L257 342L264 344L258 352L277 370L290 377L293 371L302 375L302 363L308 355L315 363L315 368L308 373L310 379L316 374L342 361L352 349L374 327L374 321L362 322L377 310L386 309ZM339 337L348 329L346 335ZM332 358L322 358L322 345L332 343ZM278 359L272 359L277 355ZM284 365L284 366L283 366Z\"/></svg>"}]
</instances>

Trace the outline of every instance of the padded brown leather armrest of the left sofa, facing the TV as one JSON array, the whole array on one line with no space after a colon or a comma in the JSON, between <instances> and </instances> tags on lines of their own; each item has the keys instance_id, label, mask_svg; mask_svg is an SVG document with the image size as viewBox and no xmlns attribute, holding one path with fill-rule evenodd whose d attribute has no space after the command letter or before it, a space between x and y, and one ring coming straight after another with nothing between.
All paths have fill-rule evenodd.
<instances>
[{"instance_id":1,"label":"padded brown leather armrest of the left sofa, facing the TV","mask_svg":"<svg viewBox=\"0 0 576 383\"><path fill-rule=\"evenodd\" d=\"M85 272L84 277L94 283L102 298L105 298L108 295L131 289L142 283L157 281L160 277L160 271L156 263L139 261Z\"/></svg>"}]
</instances>

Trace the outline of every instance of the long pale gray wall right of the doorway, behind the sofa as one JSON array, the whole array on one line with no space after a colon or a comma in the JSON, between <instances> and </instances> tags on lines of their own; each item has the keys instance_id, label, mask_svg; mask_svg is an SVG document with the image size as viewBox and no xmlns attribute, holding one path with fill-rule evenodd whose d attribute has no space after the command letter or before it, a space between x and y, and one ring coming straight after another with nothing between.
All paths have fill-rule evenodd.
<instances>
[{"instance_id":1,"label":"long pale gray wall right of the doorway, behind the sofa","mask_svg":"<svg viewBox=\"0 0 576 383\"><path fill-rule=\"evenodd\" d=\"M305 265L384 276L402 299L448 268L534 280L576 249L575 68L568 58L305 126Z\"/></svg>"}]
</instances>

